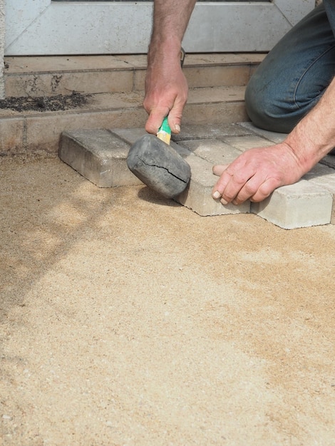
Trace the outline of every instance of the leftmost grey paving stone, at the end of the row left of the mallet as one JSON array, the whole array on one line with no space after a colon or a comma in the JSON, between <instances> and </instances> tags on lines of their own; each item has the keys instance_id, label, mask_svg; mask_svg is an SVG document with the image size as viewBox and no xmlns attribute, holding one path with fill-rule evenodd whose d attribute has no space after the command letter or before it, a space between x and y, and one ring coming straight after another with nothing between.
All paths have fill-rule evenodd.
<instances>
[{"instance_id":1,"label":"leftmost grey paving stone, at the end of the row left of the mallet","mask_svg":"<svg viewBox=\"0 0 335 446\"><path fill-rule=\"evenodd\" d=\"M127 167L130 145L108 130L63 132L59 157L98 187L142 184Z\"/></svg>"}]
</instances>

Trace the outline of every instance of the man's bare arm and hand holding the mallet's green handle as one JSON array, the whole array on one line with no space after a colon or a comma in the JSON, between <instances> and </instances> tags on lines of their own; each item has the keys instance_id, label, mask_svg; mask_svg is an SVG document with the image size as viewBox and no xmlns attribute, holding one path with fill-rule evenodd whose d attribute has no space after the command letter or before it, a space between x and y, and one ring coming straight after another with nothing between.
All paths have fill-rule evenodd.
<instances>
[{"instance_id":1,"label":"man's bare arm and hand holding the mallet's green handle","mask_svg":"<svg viewBox=\"0 0 335 446\"><path fill-rule=\"evenodd\" d=\"M145 78L145 129L157 133L163 118L172 132L180 131L182 110L187 101L187 81L180 68L180 47L196 0L155 0L153 33Z\"/></svg>"}]
</instances>

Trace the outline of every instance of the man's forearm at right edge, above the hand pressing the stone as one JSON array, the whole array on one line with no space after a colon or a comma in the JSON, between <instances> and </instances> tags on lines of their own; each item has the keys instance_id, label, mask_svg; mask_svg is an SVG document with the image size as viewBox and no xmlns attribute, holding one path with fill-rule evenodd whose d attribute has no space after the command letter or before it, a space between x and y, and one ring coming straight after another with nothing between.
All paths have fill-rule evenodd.
<instances>
[{"instance_id":1,"label":"man's forearm at right edge, above the hand pressing the stone","mask_svg":"<svg viewBox=\"0 0 335 446\"><path fill-rule=\"evenodd\" d=\"M319 103L297 124L285 142L304 172L311 170L335 147L335 78Z\"/></svg>"}]
</instances>

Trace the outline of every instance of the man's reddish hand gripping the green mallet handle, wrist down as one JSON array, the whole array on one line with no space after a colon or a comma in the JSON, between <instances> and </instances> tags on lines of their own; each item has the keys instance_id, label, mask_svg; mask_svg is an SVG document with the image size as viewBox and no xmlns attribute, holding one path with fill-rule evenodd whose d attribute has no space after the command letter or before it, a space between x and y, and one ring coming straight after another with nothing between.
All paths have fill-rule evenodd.
<instances>
[{"instance_id":1,"label":"man's reddish hand gripping the green mallet handle, wrist down","mask_svg":"<svg viewBox=\"0 0 335 446\"><path fill-rule=\"evenodd\" d=\"M180 132L182 110L187 101L187 81L180 67L180 53L170 60L157 56L148 66L143 106L149 114L145 125L148 133L156 134L168 116L172 133Z\"/></svg>"}]
</instances>

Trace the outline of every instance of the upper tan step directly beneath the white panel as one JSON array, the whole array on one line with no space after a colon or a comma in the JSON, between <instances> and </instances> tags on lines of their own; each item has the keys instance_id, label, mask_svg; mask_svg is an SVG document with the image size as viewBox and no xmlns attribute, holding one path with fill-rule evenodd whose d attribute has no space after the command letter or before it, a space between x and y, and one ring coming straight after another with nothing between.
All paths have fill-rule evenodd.
<instances>
[{"instance_id":1,"label":"upper tan step directly beneath the white panel","mask_svg":"<svg viewBox=\"0 0 335 446\"><path fill-rule=\"evenodd\" d=\"M246 85L264 53L187 54L190 88ZM16 56L5 58L9 96L129 93L144 89L145 55Z\"/></svg>"}]
</instances>

